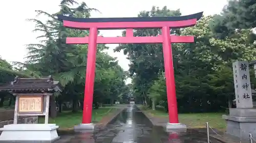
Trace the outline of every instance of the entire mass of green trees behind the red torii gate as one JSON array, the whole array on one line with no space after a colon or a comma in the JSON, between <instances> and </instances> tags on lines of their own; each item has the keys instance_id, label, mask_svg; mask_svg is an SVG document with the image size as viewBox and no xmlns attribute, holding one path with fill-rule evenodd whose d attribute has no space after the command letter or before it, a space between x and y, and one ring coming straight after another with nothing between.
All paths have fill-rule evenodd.
<instances>
[{"instance_id":1,"label":"entire mass of green trees behind the red torii gate","mask_svg":"<svg viewBox=\"0 0 256 143\"><path fill-rule=\"evenodd\" d=\"M55 110L54 101L59 105L72 102L73 111L82 108L88 46L68 45L65 41L67 37L88 36L89 31L63 27L56 15L90 18L90 12L94 10L86 3L75 0L60 1L55 13L37 10L38 16L48 16L46 21L29 19L35 23L34 32L43 33L37 37L40 42L27 45L29 52L26 62L14 63L18 68L0 59L0 83L8 82L16 75L52 75L65 88L60 95L51 99L51 112ZM179 112L221 111L231 106L234 99L232 62L255 60L256 43L252 32L252 28L256 27L253 17L255 11L254 1L229 1L221 14L205 15L194 27L170 31L172 35L195 36L194 43L172 45ZM142 10L138 13L138 17L181 15L179 9L170 10L166 6L152 7L150 11ZM134 36L158 34L161 34L160 29L134 30ZM126 35L125 31L122 35ZM162 45L119 44L114 50L123 50L127 55L129 71L124 71L116 58L104 52L108 48L104 44L97 46L93 99L95 108L100 104L125 102L135 97L137 103L167 110ZM253 71L250 74L252 76ZM126 85L125 79L128 76L132 78L132 83ZM255 88L255 78L251 78L251 83ZM2 102L4 98L1 98Z\"/></svg>"}]
</instances>

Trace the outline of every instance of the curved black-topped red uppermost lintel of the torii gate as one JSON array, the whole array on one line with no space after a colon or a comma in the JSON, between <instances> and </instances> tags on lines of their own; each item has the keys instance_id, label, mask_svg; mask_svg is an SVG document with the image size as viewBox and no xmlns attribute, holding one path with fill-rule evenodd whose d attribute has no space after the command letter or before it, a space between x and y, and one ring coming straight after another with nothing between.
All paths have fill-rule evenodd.
<instances>
[{"instance_id":1,"label":"curved black-topped red uppermost lintel of the torii gate","mask_svg":"<svg viewBox=\"0 0 256 143\"><path fill-rule=\"evenodd\" d=\"M194 26L203 15L203 12L175 17L126 17L126 18L75 18L57 15L63 25L69 28L89 30L96 27L98 30L125 29L125 28L184 28Z\"/></svg>"}]
</instances>

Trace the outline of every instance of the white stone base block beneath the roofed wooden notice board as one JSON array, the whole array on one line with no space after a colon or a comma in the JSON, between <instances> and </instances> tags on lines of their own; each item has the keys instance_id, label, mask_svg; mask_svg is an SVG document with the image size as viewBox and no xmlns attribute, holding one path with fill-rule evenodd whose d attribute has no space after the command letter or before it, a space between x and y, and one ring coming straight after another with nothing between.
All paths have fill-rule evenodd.
<instances>
[{"instance_id":1,"label":"white stone base block beneath the roofed wooden notice board","mask_svg":"<svg viewBox=\"0 0 256 143\"><path fill-rule=\"evenodd\" d=\"M0 128L0 142L50 143L59 139L56 124L10 124Z\"/></svg>"}]
</instances>

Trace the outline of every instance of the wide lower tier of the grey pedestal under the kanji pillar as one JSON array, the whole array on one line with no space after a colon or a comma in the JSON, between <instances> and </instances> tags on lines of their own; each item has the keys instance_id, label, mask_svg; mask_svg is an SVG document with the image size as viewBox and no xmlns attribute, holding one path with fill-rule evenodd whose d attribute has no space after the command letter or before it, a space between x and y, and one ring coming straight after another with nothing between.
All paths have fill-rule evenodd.
<instances>
[{"instance_id":1,"label":"wide lower tier of the grey pedestal under the kanji pillar","mask_svg":"<svg viewBox=\"0 0 256 143\"><path fill-rule=\"evenodd\" d=\"M256 136L255 117L236 117L223 115L222 118L224 118L227 122L227 134L237 136L245 140L248 140L249 134L252 134L252 136Z\"/></svg>"}]
</instances>

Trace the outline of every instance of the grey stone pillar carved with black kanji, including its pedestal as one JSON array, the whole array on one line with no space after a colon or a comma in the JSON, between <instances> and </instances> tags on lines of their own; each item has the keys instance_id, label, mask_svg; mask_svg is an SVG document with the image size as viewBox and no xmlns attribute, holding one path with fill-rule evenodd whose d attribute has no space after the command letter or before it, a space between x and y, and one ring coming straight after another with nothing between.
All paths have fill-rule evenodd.
<instances>
[{"instance_id":1,"label":"grey stone pillar carved with black kanji, including its pedestal","mask_svg":"<svg viewBox=\"0 0 256 143\"><path fill-rule=\"evenodd\" d=\"M256 136L256 109L252 104L250 67L247 61L237 61L232 64L232 68L237 107L229 108L229 115L223 115L223 119L227 123L227 134L247 141L250 133Z\"/></svg>"}]
</instances>

